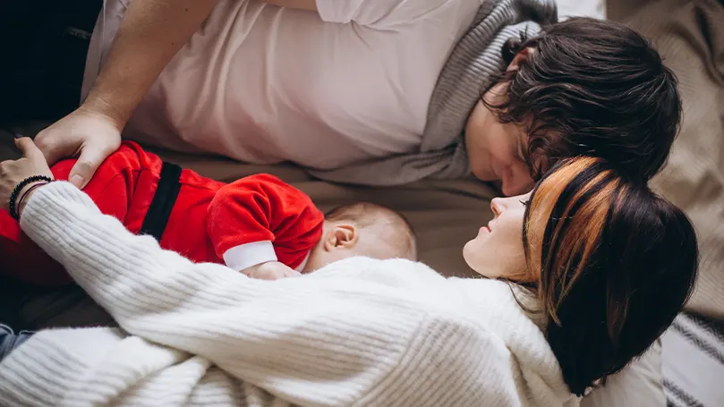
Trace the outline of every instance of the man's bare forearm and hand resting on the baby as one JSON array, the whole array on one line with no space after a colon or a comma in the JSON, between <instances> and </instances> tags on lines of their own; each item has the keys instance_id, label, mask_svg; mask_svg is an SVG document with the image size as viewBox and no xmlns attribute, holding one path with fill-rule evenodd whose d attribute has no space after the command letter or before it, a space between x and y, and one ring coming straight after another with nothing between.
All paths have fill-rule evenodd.
<instances>
[{"instance_id":1,"label":"man's bare forearm and hand resting on the baby","mask_svg":"<svg viewBox=\"0 0 724 407\"><path fill-rule=\"evenodd\" d=\"M121 131L158 74L215 4L215 0L133 0L86 100L35 138L47 162L78 157L69 180L85 187L120 146Z\"/></svg>"}]
</instances>

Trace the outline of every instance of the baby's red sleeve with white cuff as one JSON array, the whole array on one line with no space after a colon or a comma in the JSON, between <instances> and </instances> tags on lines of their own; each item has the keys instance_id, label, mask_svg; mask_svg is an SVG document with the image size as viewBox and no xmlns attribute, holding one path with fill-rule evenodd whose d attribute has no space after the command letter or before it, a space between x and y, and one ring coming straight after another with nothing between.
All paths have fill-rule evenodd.
<instances>
[{"instance_id":1,"label":"baby's red sleeve with white cuff","mask_svg":"<svg viewBox=\"0 0 724 407\"><path fill-rule=\"evenodd\" d=\"M319 242L323 223L324 215L306 194L275 176L258 174L217 191L207 228L217 256L228 267L278 260L296 268ZM273 244L273 254L265 242Z\"/></svg>"}]
</instances>

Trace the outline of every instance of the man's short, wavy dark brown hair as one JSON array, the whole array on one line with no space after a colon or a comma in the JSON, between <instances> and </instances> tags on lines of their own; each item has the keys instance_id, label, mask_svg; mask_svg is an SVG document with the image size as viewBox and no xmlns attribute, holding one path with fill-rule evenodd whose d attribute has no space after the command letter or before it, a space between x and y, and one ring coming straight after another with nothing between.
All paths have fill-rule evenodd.
<instances>
[{"instance_id":1,"label":"man's short, wavy dark brown hair","mask_svg":"<svg viewBox=\"0 0 724 407\"><path fill-rule=\"evenodd\" d=\"M501 123L527 128L526 160L534 179L558 158L602 157L646 181L659 172L677 135L677 79L659 53L634 30L612 21L572 18L503 48L510 64L507 96L491 105Z\"/></svg>"}]
</instances>

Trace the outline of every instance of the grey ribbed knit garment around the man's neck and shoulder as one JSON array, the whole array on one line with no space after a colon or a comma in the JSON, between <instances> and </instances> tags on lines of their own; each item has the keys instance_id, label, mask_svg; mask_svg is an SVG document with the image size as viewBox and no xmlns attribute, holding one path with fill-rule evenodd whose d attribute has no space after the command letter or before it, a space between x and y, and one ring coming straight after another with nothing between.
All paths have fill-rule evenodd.
<instances>
[{"instance_id":1,"label":"grey ribbed knit garment around the man's neck and shoulder","mask_svg":"<svg viewBox=\"0 0 724 407\"><path fill-rule=\"evenodd\" d=\"M433 177L470 174L463 130L481 94L505 70L500 50L510 38L533 36L540 25L557 21L553 0L484 1L472 26L447 59L430 98L419 150L331 171L311 171L321 179L369 185L397 185ZM385 174L386 176L380 176ZM393 174L393 175L389 175Z\"/></svg>"}]
</instances>

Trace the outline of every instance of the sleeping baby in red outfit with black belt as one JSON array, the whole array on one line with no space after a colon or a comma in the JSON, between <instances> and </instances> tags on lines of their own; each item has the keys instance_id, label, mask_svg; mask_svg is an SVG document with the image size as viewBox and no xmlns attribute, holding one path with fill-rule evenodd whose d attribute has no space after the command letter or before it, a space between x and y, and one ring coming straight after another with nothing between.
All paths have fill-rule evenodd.
<instances>
[{"instance_id":1,"label":"sleeping baby in red outfit with black belt","mask_svg":"<svg viewBox=\"0 0 724 407\"><path fill-rule=\"evenodd\" d=\"M74 164L54 165L55 179L66 180ZM132 142L106 158L84 191L132 233L149 234L192 261L226 264L254 278L298 276L352 256L417 255L412 228L388 208L354 203L324 216L306 194L272 175L217 182L165 163ZM5 211L0 211L0 256L0 272L21 281L72 282Z\"/></svg>"}]
</instances>

